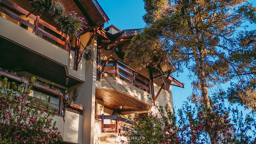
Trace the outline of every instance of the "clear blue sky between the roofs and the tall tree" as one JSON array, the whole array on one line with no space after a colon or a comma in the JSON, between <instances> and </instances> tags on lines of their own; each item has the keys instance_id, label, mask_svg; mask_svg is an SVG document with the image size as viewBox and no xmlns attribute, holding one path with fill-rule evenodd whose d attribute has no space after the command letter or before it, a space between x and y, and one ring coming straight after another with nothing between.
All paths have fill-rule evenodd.
<instances>
[{"instance_id":1,"label":"clear blue sky between the roofs and the tall tree","mask_svg":"<svg viewBox=\"0 0 256 144\"><path fill-rule=\"evenodd\" d=\"M143 28L145 26L142 20L142 16L145 13L144 2L142 0L98 0L98 2L110 19L109 24L105 24L104 27L113 24L120 30L124 30ZM256 6L256 0L249 0L249 2L252 2ZM256 26L249 25L249 29L256 29ZM184 89L172 86L174 107L176 108L180 108L192 93L191 81L187 75L188 70L185 69L179 77L175 77L185 84ZM229 83L223 85L223 88L225 89L228 85ZM240 107L240 109L243 108Z\"/></svg>"}]
</instances>

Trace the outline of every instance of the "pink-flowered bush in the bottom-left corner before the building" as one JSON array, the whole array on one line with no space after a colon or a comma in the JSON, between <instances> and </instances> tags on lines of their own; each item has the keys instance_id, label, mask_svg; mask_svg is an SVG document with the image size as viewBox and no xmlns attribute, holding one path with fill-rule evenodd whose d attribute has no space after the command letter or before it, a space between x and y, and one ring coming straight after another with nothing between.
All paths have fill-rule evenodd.
<instances>
[{"instance_id":1,"label":"pink-flowered bush in the bottom-left corner before the building","mask_svg":"<svg viewBox=\"0 0 256 144\"><path fill-rule=\"evenodd\" d=\"M35 78L31 78L31 84ZM34 103L28 91L19 90L13 82L12 89L6 87L7 78L0 86L0 143L55 143L60 132L53 123L55 111L49 104Z\"/></svg>"}]
</instances>

